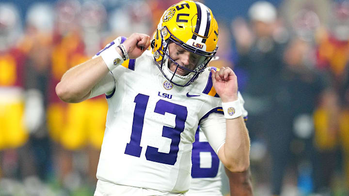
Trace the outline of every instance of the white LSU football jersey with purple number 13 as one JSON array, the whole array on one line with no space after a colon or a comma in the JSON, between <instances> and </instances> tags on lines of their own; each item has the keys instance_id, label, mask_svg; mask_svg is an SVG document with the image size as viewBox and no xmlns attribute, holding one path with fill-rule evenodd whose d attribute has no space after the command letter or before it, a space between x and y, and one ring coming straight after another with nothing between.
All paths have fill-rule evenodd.
<instances>
[{"instance_id":1,"label":"white LSU football jersey with purple number 13","mask_svg":"<svg viewBox=\"0 0 349 196\"><path fill-rule=\"evenodd\" d=\"M186 192L198 124L211 113L223 115L210 69L191 85L178 87L165 79L151 51L115 68L116 87L107 95L109 109L97 179ZM225 136L225 128L214 131Z\"/></svg>"}]
</instances>

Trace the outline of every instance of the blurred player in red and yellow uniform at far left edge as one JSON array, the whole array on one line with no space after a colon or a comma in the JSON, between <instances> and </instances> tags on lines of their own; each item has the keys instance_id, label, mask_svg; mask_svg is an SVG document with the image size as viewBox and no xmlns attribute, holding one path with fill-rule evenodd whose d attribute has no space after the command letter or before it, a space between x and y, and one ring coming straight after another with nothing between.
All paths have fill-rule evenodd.
<instances>
[{"instance_id":1,"label":"blurred player in red and yellow uniform at far left edge","mask_svg":"<svg viewBox=\"0 0 349 196\"><path fill-rule=\"evenodd\" d=\"M18 42L23 34L20 24L16 6L0 3L0 195L12 194L17 180L27 181L35 174L27 144L30 123L23 119L29 92L24 90L26 54Z\"/></svg>"}]
</instances>

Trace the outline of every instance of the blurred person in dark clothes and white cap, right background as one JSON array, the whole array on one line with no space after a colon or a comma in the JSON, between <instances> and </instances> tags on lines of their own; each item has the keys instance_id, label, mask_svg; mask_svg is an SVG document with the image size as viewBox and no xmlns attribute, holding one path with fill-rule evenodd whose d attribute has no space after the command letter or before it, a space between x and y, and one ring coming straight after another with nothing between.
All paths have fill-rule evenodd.
<instances>
[{"instance_id":1,"label":"blurred person in dark clothes and white cap, right background","mask_svg":"<svg viewBox=\"0 0 349 196\"><path fill-rule=\"evenodd\" d=\"M271 155L271 169L262 169L257 181L268 181L264 175L271 173L272 193L279 195L283 166L286 165L286 160L280 159L280 156L286 153L286 141L292 132L290 126L285 126L286 121L290 121L289 114L280 113L282 110L276 106L284 43L288 38L277 39L281 27L276 8L271 3L256 1L248 13L250 25L239 18L233 21L232 30L239 53L237 66L247 73L243 95L249 111L247 128L252 139L251 159L264 160L263 143L259 141L266 141ZM262 147L257 144L262 144ZM262 165L266 164L268 162L262 162ZM268 168L267 165L264 168Z\"/></svg>"}]
</instances>

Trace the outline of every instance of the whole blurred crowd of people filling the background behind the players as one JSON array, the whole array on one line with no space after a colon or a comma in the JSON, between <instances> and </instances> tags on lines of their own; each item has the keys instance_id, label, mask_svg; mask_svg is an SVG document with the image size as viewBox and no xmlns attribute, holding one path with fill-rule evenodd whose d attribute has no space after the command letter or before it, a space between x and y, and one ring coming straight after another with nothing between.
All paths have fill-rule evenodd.
<instances>
[{"instance_id":1,"label":"whole blurred crowd of people filling the background behind the players","mask_svg":"<svg viewBox=\"0 0 349 196\"><path fill-rule=\"evenodd\" d=\"M214 15L229 3L200 1ZM176 2L38 1L24 14L0 2L0 196L93 194L107 102L63 103L55 86L116 37L151 35ZM217 17L210 66L238 75L255 195L347 196L349 0L248 2Z\"/></svg>"}]
</instances>

